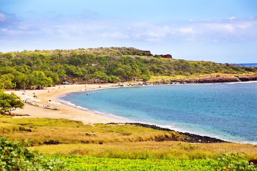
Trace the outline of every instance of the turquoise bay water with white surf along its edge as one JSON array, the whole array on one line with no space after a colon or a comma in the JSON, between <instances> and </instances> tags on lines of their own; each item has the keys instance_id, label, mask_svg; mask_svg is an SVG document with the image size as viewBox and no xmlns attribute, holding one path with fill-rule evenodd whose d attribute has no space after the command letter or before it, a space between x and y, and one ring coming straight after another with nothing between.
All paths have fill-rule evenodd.
<instances>
[{"instance_id":1,"label":"turquoise bay water with white surf along its edge","mask_svg":"<svg viewBox=\"0 0 257 171\"><path fill-rule=\"evenodd\" d=\"M129 122L257 143L256 81L108 88L74 92L59 100Z\"/></svg>"}]
</instances>

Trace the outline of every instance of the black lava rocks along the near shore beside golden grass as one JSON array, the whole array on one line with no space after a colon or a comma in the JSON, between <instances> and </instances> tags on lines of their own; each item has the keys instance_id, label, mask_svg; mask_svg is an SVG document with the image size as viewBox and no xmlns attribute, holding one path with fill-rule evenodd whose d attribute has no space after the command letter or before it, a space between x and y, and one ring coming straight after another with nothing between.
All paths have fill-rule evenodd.
<instances>
[{"instance_id":1,"label":"black lava rocks along the near shore beside golden grass","mask_svg":"<svg viewBox=\"0 0 257 171\"><path fill-rule=\"evenodd\" d=\"M162 127L158 127L156 125L149 125L149 124L144 124L144 123L106 123L108 125L116 125L116 124L129 124L129 125L136 125L136 126L141 126L141 127L145 127L145 128L152 128L154 130L162 130L162 131L175 131L175 130L171 130L169 128L162 128ZM178 132L178 131L175 131ZM181 135L185 135L188 136L183 140L172 140L172 141L183 141L183 142L187 142L187 143L227 143L227 141L223 141L217 138L212 138L209 136L201 136L201 135L196 135L196 134L192 134L192 133L182 133L182 132L178 132ZM155 141L171 141L171 139L169 137L157 137L155 138Z\"/></svg>"}]
</instances>

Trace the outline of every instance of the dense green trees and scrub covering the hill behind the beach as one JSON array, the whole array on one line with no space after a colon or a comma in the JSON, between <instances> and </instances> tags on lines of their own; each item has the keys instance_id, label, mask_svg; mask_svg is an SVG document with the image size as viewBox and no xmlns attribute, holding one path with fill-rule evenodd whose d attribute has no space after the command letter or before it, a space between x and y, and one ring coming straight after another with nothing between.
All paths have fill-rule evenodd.
<instances>
[{"instance_id":1,"label":"dense green trees and scrub covering the hill behind the beach","mask_svg":"<svg viewBox=\"0 0 257 171\"><path fill-rule=\"evenodd\" d=\"M30 88L63 81L147 81L151 76L244 74L257 68L160 58L135 48L88 48L0 52L0 86Z\"/></svg>"}]
</instances>

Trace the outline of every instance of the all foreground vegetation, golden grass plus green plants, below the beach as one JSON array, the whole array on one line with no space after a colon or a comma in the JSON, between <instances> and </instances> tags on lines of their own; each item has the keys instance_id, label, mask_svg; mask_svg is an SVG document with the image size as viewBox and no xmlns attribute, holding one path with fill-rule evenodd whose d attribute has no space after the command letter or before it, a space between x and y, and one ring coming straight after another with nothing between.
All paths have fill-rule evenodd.
<instances>
[{"instance_id":1,"label":"all foreground vegetation, golden grass plus green plants, below the beach","mask_svg":"<svg viewBox=\"0 0 257 171\"><path fill-rule=\"evenodd\" d=\"M226 170L239 166L240 170L256 169L248 162L257 158L256 145L185 143L179 140L186 136L177 132L128 124L84 125L67 119L1 116L0 136L5 137L1 139L2 150L7 148L6 144L13 146L11 142L14 141L15 148L28 149L25 154L32 156L25 157L24 161L34 162L36 167L56 168L52 170L217 170L224 166ZM155 138L159 136L169 136L172 141L158 141ZM23 142L27 148L16 141ZM227 152L222 153L223 150ZM14 157L3 154L1 162L3 158Z\"/></svg>"}]
</instances>

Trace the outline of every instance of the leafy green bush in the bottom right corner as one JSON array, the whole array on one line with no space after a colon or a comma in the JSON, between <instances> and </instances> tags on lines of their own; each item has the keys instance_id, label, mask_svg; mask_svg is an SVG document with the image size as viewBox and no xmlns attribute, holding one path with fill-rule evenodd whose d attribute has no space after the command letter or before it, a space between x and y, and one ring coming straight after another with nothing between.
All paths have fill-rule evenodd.
<instances>
[{"instance_id":1,"label":"leafy green bush in the bottom right corner","mask_svg":"<svg viewBox=\"0 0 257 171\"><path fill-rule=\"evenodd\" d=\"M223 170L240 170L240 171L257 171L257 165L249 161L246 158L245 153L239 155L239 153L233 152L231 154L222 151L215 162L210 162L212 170L223 171Z\"/></svg>"}]
</instances>

